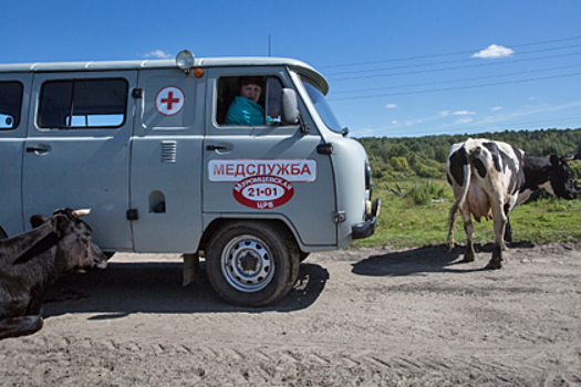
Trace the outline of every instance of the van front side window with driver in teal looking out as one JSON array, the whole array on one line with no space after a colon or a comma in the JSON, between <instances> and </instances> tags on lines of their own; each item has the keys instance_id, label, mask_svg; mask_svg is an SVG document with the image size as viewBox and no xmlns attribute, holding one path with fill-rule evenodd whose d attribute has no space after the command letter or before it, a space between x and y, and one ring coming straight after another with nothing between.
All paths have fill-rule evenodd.
<instances>
[{"instance_id":1,"label":"van front side window with driver in teal looking out","mask_svg":"<svg viewBox=\"0 0 581 387\"><path fill-rule=\"evenodd\" d=\"M218 81L218 125L281 125L282 82L277 76L222 76Z\"/></svg>"}]
</instances>

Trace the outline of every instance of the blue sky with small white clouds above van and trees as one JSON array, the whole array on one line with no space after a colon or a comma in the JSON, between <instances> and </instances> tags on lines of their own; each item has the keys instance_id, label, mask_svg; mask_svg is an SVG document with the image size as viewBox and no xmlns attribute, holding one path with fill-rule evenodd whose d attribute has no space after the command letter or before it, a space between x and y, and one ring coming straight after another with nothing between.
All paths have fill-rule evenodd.
<instances>
[{"instance_id":1,"label":"blue sky with small white clouds above van and trees","mask_svg":"<svg viewBox=\"0 0 581 387\"><path fill-rule=\"evenodd\" d=\"M352 136L581 127L579 0L4 1L0 63L293 57Z\"/></svg>"}]
</instances>

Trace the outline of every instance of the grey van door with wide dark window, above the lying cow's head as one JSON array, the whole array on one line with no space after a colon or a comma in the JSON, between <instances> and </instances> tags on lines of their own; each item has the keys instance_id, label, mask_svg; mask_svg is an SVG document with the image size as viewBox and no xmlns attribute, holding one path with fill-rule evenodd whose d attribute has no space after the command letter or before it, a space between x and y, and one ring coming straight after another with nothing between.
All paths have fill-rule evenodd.
<instances>
[{"instance_id":1,"label":"grey van door with wide dark window, above the lying cow's head","mask_svg":"<svg viewBox=\"0 0 581 387\"><path fill-rule=\"evenodd\" d=\"M103 250L133 249L126 212L136 77L135 71L34 75L23 163L25 219L62 207L90 208L86 221Z\"/></svg>"}]
</instances>

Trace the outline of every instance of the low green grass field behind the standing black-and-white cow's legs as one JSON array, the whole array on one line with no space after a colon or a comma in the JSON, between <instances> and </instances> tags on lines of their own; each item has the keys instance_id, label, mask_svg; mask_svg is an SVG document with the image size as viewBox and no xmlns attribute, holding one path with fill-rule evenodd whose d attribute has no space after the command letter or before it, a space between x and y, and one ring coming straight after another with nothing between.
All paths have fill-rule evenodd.
<instances>
[{"instance_id":1,"label":"low green grass field behind the standing black-and-white cow's legs","mask_svg":"<svg viewBox=\"0 0 581 387\"><path fill-rule=\"evenodd\" d=\"M454 202L452 188L446 181L423 180L375 185L373 196L382 199L380 226L372 238L356 241L352 247L394 248L425 247L446 243L448 210ZM435 200L432 200L435 199ZM476 243L494 241L492 221L474 222ZM553 197L526 202L510 215L513 242L579 242L581 241L581 200ZM455 240L466 243L464 222L458 217Z\"/></svg>"}]
</instances>

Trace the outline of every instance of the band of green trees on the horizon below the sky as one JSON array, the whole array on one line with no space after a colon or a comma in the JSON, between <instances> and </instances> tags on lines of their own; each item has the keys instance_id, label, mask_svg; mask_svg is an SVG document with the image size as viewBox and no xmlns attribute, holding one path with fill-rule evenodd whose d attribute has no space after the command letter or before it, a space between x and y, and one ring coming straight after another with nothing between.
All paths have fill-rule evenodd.
<instances>
[{"instance_id":1,"label":"band of green trees on the horizon below the sky","mask_svg":"<svg viewBox=\"0 0 581 387\"><path fill-rule=\"evenodd\" d=\"M354 139L367 151L375 181L402 181L415 178L445 179L446 158L450 146L469 137L505 142L536 156L563 156L581 147L581 128ZM581 163L572 163L571 168L575 177L581 178Z\"/></svg>"}]
</instances>

